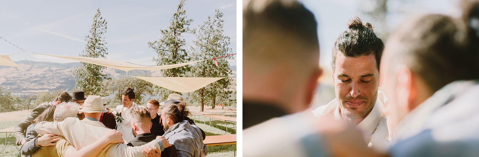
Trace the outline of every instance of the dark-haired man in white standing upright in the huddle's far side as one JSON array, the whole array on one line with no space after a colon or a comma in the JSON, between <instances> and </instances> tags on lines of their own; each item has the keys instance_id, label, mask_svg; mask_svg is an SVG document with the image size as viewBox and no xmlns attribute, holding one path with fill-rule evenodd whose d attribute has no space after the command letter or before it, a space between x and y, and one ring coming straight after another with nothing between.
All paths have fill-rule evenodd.
<instances>
[{"instance_id":1,"label":"dark-haired man in white standing upright in the huddle's far side","mask_svg":"<svg viewBox=\"0 0 479 157\"><path fill-rule=\"evenodd\" d=\"M123 91L122 105L116 106L116 109L114 111L114 115L116 118L116 130L123 134L123 140L125 140L126 143L130 142L131 140L133 140L133 138L135 138L135 136L133 136L133 131L130 124L131 108L138 107L138 105L133 102L136 97L133 90L135 89L128 87ZM118 117L118 115L121 115L121 118Z\"/></svg>"}]
</instances>

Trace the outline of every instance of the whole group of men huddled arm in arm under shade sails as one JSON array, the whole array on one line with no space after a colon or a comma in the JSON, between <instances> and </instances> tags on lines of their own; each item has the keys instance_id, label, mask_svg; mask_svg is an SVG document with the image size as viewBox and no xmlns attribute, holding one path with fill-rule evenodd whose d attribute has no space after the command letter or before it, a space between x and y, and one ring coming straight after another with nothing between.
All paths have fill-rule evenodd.
<instances>
[{"instance_id":1,"label":"whole group of men huddled arm in arm under shade sails","mask_svg":"<svg viewBox=\"0 0 479 157\"><path fill-rule=\"evenodd\" d=\"M26 157L200 157L207 154L205 132L188 118L180 94L168 100L135 102L133 88L111 109L105 97L82 90L60 92L38 105L14 128ZM158 114L160 106L161 114Z\"/></svg>"}]
</instances>

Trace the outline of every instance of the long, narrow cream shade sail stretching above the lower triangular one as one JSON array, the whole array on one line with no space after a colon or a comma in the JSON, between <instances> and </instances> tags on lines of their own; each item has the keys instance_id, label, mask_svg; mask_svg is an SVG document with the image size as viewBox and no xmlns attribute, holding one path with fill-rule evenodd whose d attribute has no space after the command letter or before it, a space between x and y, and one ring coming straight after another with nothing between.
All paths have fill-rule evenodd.
<instances>
[{"instance_id":1,"label":"long, narrow cream shade sail stretching above the lower triangular one","mask_svg":"<svg viewBox=\"0 0 479 157\"><path fill-rule=\"evenodd\" d=\"M36 54L41 54L41 53L36 53ZM131 71L131 70L171 69L171 68L176 68L176 67L188 65L188 64L191 64L191 63L205 61L205 60L201 60L201 61L194 61L194 62L188 62L188 63L178 63L178 64L161 65L161 66L143 66L143 65L137 65L137 64L133 64L133 63L109 60L109 59L104 59L104 58L79 57L79 56L61 56L61 55L50 55L50 54L43 54L43 55L54 56L54 57L65 58L65 59L70 59L70 60L74 60L74 61L80 61L80 62L84 62L84 63L91 63L91 64L96 64L96 65L106 66L106 67L122 70L122 71L125 71L125 72Z\"/></svg>"}]
</instances>

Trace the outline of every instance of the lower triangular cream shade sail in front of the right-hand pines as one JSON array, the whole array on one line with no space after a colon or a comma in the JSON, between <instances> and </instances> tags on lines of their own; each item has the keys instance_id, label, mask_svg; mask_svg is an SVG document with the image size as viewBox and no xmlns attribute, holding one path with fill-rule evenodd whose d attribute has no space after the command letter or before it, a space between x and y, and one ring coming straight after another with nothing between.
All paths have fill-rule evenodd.
<instances>
[{"instance_id":1,"label":"lower triangular cream shade sail in front of the right-hand pines","mask_svg":"<svg viewBox=\"0 0 479 157\"><path fill-rule=\"evenodd\" d=\"M208 84L227 77L144 77L135 76L139 79L156 84L160 87L180 92L188 93L196 91ZM230 77L230 76L228 76Z\"/></svg>"}]
</instances>

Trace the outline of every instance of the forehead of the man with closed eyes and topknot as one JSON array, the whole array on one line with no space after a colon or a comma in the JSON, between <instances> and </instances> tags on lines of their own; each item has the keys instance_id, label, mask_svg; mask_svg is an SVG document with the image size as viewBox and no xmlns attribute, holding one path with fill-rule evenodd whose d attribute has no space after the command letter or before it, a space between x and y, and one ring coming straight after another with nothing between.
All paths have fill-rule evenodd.
<instances>
[{"instance_id":1,"label":"forehead of the man with closed eyes and topknot","mask_svg":"<svg viewBox=\"0 0 479 157\"><path fill-rule=\"evenodd\" d=\"M336 75L348 77L367 77L378 73L374 54L360 57L348 57L342 53L336 57Z\"/></svg>"}]
</instances>

